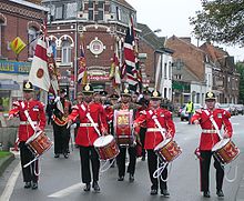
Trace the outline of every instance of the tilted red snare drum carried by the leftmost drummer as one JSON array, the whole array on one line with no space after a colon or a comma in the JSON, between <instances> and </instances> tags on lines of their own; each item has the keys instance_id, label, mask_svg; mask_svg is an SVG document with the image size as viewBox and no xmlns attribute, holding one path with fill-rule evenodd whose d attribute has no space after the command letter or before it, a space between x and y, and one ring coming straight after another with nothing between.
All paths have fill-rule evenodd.
<instances>
[{"instance_id":1,"label":"tilted red snare drum carried by the leftmost drummer","mask_svg":"<svg viewBox=\"0 0 244 201\"><path fill-rule=\"evenodd\" d=\"M39 131L29 138L26 144L33 152L34 157L39 158L44 151L48 151L52 147L52 141L43 131Z\"/></svg>"}]
</instances>

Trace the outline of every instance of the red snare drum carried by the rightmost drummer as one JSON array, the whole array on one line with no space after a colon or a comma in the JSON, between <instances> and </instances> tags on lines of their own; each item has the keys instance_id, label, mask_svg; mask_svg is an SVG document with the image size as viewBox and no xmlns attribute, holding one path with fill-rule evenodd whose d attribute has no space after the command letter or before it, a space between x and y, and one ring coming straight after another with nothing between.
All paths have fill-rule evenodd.
<instances>
[{"instance_id":1,"label":"red snare drum carried by the rightmost drummer","mask_svg":"<svg viewBox=\"0 0 244 201\"><path fill-rule=\"evenodd\" d=\"M240 149L230 139L223 139L217 142L212 151L216 159L223 164L232 162L240 153Z\"/></svg>"}]
</instances>

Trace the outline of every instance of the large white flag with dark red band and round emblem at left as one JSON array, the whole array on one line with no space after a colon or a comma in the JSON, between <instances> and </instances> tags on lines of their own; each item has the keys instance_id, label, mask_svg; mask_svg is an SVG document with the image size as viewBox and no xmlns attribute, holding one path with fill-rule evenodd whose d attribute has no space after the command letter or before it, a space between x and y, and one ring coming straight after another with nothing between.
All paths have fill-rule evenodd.
<instances>
[{"instance_id":1,"label":"large white flag with dark red band and round emblem at left","mask_svg":"<svg viewBox=\"0 0 244 201\"><path fill-rule=\"evenodd\" d=\"M38 39L34 57L31 63L29 81L44 91L50 89L50 76L48 70L47 40L45 36Z\"/></svg>"}]
</instances>

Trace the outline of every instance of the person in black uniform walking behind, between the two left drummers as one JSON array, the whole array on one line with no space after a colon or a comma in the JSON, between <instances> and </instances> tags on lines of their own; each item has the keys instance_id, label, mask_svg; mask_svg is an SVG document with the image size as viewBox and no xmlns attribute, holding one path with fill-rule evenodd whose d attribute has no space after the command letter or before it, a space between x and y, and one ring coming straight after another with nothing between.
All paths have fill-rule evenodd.
<instances>
[{"instance_id":1,"label":"person in black uniform walking behind, between the two left drummers","mask_svg":"<svg viewBox=\"0 0 244 201\"><path fill-rule=\"evenodd\" d=\"M60 104L63 111L60 109ZM60 97L54 99L52 104L53 110L53 139L54 139L54 158L60 158L63 154L69 158L70 128L67 128L68 115L71 112L71 102L67 99L67 90L60 90Z\"/></svg>"}]
</instances>

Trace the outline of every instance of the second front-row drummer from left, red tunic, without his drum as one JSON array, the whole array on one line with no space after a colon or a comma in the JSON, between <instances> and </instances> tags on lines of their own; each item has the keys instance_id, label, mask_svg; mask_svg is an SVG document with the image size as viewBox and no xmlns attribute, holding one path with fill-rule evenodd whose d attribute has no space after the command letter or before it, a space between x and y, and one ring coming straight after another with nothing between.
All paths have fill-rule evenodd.
<instances>
[{"instance_id":1,"label":"second front-row drummer from left, red tunic, without his drum","mask_svg":"<svg viewBox=\"0 0 244 201\"><path fill-rule=\"evenodd\" d=\"M105 112L100 102L93 101L93 89L91 84L87 84L83 88L83 101L72 108L71 114L69 114L69 125L75 122L77 118L80 120L80 127L75 138L75 144L80 147L80 159L81 159L81 178L82 182L85 183L84 191L91 189L91 170L90 160L92 165L92 188L95 192L100 192L99 187L99 169L100 160L99 154L94 149L94 141L100 134L108 134L108 123L105 120ZM91 119L88 118L90 114ZM93 121L93 122L92 122Z\"/></svg>"}]
</instances>

